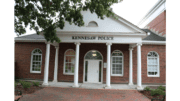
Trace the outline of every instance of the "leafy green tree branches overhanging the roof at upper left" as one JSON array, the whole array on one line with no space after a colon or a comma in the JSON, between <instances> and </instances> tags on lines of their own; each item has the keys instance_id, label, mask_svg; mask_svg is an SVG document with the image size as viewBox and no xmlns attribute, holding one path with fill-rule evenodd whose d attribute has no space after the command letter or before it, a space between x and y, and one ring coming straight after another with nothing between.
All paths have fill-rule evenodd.
<instances>
[{"instance_id":1,"label":"leafy green tree branches overhanging the roof at upper left","mask_svg":"<svg viewBox=\"0 0 180 101\"><path fill-rule=\"evenodd\" d=\"M30 25L37 34L41 29L47 41L60 42L55 29L63 29L65 21L83 26L81 11L88 9L100 19L114 16L110 6L119 2L121 0L15 0L15 32L24 34Z\"/></svg>"}]
</instances>

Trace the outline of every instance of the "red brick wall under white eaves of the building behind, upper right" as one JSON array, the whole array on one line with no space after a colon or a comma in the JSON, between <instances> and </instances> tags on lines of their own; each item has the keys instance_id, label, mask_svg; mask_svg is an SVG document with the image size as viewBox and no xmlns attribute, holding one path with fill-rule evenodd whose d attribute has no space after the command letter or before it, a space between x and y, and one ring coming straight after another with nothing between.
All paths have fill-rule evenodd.
<instances>
[{"instance_id":1,"label":"red brick wall under white eaves of the building behind, upper right","mask_svg":"<svg viewBox=\"0 0 180 101\"><path fill-rule=\"evenodd\" d=\"M150 29L155 29L159 33L166 34L166 11L162 12L153 21L147 25Z\"/></svg>"}]
</instances>

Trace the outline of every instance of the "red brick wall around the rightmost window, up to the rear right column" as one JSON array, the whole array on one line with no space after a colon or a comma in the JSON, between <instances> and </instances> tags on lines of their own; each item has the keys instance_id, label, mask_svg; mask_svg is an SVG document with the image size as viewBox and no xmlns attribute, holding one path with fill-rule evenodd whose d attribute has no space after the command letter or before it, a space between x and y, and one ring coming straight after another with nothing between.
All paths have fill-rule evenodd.
<instances>
[{"instance_id":1,"label":"red brick wall around the rightmost window, up to the rear right column","mask_svg":"<svg viewBox=\"0 0 180 101\"><path fill-rule=\"evenodd\" d=\"M147 54L155 51L159 54L160 77L147 77ZM165 45L142 45L141 47L142 83L166 83L166 47ZM133 50L133 82L137 82L137 48Z\"/></svg>"}]
</instances>

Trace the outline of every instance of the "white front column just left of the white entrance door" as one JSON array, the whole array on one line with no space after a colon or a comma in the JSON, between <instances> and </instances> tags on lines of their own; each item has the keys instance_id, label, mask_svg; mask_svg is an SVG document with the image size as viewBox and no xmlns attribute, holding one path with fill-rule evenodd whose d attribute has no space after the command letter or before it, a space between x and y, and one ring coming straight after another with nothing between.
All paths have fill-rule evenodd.
<instances>
[{"instance_id":1,"label":"white front column just left of the white entrance door","mask_svg":"<svg viewBox=\"0 0 180 101\"><path fill-rule=\"evenodd\" d=\"M78 85L78 71L79 71L79 46L80 43L75 43L76 45L76 57L75 57L75 71L74 71L74 85L73 87L79 87Z\"/></svg>"}]
</instances>

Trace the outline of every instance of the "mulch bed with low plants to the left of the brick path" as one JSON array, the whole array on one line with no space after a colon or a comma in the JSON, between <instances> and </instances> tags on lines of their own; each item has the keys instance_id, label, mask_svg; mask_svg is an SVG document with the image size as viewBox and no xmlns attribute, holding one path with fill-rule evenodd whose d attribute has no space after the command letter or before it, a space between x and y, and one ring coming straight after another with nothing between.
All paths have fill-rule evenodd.
<instances>
[{"instance_id":1,"label":"mulch bed with low plants to the left of the brick path","mask_svg":"<svg viewBox=\"0 0 180 101\"><path fill-rule=\"evenodd\" d=\"M25 94L32 94L34 93L35 91L38 91L40 89L43 89L44 87L37 87L37 86L34 86L32 84L32 86L30 88L23 88L22 85L17 85L15 87L15 90L21 90L22 92L22 95L25 95ZM15 92L15 95L17 95L17 92Z\"/></svg>"}]
</instances>

